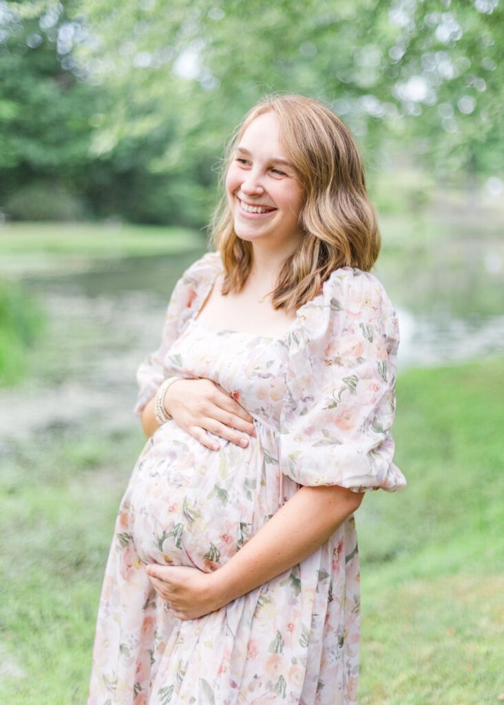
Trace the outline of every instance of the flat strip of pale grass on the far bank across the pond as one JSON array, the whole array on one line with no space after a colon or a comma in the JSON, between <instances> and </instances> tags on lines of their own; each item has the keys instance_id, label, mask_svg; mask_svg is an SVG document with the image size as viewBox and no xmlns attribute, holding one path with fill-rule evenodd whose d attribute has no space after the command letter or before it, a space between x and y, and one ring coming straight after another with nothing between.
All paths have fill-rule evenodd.
<instances>
[{"instance_id":1,"label":"flat strip of pale grass on the far bank across the pond","mask_svg":"<svg viewBox=\"0 0 504 705\"><path fill-rule=\"evenodd\" d=\"M171 255L200 249L204 231L106 223L9 223L0 227L0 270L44 271L89 259Z\"/></svg>"}]
</instances>

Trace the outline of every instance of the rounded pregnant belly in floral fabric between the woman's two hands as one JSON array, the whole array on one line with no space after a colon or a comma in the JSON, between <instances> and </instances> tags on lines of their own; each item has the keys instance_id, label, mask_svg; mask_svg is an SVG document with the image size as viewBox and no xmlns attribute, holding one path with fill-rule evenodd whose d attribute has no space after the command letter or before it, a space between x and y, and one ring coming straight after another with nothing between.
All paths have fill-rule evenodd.
<instances>
[{"instance_id":1,"label":"rounded pregnant belly in floral fabric between the woman's two hands","mask_svg":"<svg viewBox=\"0 0 504 705\"><path fill-rule=\"evenodd\" d=\"M122 506L140 560L209 572L252 535L260 443L218 440L221 450L209 450L168 422L146 444Z\"/></svg>"}]
</instances>

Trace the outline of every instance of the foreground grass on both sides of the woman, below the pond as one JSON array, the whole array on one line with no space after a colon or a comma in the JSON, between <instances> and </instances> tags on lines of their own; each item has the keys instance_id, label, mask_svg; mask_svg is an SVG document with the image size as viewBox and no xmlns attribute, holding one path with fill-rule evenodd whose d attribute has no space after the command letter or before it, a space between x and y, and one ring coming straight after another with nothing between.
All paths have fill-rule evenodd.
<instances>
[{"instance_id":1,"label":"foreground grass on both sides of the woman, below the pond","mask_svg":"<svg viewBox=\"0 0 504 705\"><path fill-rule=\"evenodd\" d=\"M398 380L409 485L357 513L359 705L489 705L504 692L503 382L504 360ZM1 702L85 701L113 517L142 442L62 430L4 464Z\"/></svg>"}]
</instances>

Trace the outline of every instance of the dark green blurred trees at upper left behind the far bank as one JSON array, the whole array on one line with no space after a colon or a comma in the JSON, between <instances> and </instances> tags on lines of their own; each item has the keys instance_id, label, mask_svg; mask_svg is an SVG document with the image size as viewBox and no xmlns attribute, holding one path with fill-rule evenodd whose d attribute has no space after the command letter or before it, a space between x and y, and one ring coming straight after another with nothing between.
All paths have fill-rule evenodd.
<instances>
[{"instance_id":1,"label":"dark green blurred trees at upper left behind the far bank","mask_svg":"<svg viewBox=\"0 0 504 705\"><path fill-rule=\"evenodd\" d=\"M77 6L0 2L0 209L13 219L202 223L209 193L199 160L173 172L146 166L171 141L172 120L149 129L140 111L136 128L102 150L100 128L117 101L73 56L89 38L70 18Z\"/></svg>"}]
</instances>

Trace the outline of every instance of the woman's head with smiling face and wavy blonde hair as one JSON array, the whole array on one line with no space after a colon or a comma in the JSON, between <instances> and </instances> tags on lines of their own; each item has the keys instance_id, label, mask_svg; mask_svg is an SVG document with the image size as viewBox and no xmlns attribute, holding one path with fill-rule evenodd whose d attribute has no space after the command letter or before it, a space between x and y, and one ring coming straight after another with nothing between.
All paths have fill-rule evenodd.
<instances>
[{"instance_id":1,"label":"woman's head with smiling face and wavy blonde hair","mask_svg":"<svg viewBox=\"0 0 504 705\"><path fill-rule=\"evenodd\" d=\"M258 240L269 252L283 243L288 255L267 282L271 305L285 311L311 300L334 269L368 271L378 257L359 149L340 118L316 101L283 96L254 106L226 149L222 189L212 229L226 266L224 294L254 278ZM251 207L274 210L254 216Z\"/></svg>"}]
</instances>

